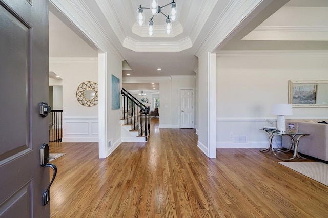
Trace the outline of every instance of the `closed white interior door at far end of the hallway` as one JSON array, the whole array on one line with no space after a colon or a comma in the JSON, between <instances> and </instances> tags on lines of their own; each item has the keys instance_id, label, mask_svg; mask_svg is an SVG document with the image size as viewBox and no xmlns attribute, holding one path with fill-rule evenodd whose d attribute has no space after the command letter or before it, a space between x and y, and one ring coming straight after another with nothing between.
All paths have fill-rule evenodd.
<instances>
[{"instance_id":1,"label":"closed white interior door at far end of the hallway","mask_svg":"<svg viewBox=\"0 0 328 218\"><path fill-rule=\"evenodd\" d=\"M194 90L181 89L181 128L194 128Z\"/></svg>"}]
</instances>

